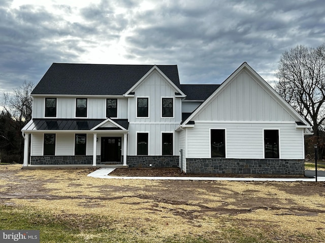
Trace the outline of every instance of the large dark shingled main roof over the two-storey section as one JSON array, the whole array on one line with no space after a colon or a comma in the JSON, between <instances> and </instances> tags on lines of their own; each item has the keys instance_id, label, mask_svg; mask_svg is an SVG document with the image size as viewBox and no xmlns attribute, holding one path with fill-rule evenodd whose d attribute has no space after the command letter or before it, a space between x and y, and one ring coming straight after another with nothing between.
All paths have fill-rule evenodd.
<instances>
[{"instance_id":1,"label":"large dark shingled main roof over the two-storey section","mask_svg":"<svg viewBox=\"0 0 325 243\"><path fill-rule=\"evenodd\" d=\"M180 88L177 65L156 65ZM53 63L31 95L123 95L154 65Z\"/></svg>"}]
</instances>

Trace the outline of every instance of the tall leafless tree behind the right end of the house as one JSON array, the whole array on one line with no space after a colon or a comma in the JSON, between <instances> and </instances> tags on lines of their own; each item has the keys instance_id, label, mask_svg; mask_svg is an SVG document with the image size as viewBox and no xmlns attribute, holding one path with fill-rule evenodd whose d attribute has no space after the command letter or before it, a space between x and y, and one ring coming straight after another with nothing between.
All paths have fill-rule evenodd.
<instances>
[{"instance_id":1,"label":"tall leafless tree behind the right end of the house","mask_svg":"<svg viewBox=\"0 0 325 243\"><path fill-rule=\"evenodd\" d=\"M276 91L309 122L318 137L325 121L325 44L285 51L278 68Z\"/></svg>"}]
</instances>

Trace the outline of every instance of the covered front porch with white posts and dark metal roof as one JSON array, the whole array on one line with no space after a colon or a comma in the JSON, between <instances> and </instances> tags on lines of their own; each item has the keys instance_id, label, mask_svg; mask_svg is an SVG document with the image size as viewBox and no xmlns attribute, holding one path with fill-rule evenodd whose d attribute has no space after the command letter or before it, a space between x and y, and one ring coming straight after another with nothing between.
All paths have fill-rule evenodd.
<instances>
[{"instance_id":1,"label":"covered front porch with white posts and dark metal roof","mask_svg":"<svg viewBox=\"0 0 325 243\"><path fill-rule=\"evenodd\" d=\"M32 120L23 129L23 167L127 167L128 123L118 121Z\"/></svg>"}]
</instances>

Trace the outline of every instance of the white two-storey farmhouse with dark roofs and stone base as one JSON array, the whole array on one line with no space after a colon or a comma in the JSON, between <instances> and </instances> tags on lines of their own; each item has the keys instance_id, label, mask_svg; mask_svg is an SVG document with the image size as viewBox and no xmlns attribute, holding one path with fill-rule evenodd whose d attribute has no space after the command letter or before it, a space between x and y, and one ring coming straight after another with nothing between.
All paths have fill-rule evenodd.
<instances>
[{"instance_id":1,"label":"white two-storey farmhouse with dark roofs and stone base","mask_svg":"<svg viewBox=\"0 0 325 243\"><path fill-rule=\"evenodd\" d=\"M24 165L304 174L310 126L247 63L221 85L176 65L53 63L31 93Z\"/></svg>"}]
</instances>

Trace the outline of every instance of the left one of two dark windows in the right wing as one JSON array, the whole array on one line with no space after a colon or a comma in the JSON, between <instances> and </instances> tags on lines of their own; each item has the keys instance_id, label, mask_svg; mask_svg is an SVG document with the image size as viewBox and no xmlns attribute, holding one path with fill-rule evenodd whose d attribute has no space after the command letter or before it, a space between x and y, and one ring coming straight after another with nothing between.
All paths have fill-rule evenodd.
<instances>
[{"instance_id":1,"label":"left one of two dark windows in the right wing","mask_svg":"<svg viewBox=\"0 0 325 243\"><path fill-rule=\"evenodd\" d=\"M211 157L225 158L225 130L211 129Z\"/></svg>"}]
</instances>

